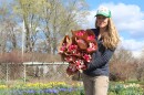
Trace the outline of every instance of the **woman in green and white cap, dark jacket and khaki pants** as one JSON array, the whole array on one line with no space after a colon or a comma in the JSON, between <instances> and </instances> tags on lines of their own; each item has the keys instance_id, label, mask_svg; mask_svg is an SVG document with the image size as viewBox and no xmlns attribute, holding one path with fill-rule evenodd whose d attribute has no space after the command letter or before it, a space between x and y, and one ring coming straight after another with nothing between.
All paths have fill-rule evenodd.
<instances>
[{"instance_id":1,"label":"woman in green and white cap, dark jacket and khaki pants","mask_svg":"<svg viewBox=\"0 0 144 95\"><path fill-rule=\"evenodd\" d=\"M92 61L82 74L85 95L107 95L109 61L112 57L120 38L107 8L96 12L95 28L91 29L96 38L99 49L92 55Z\"/></svg>"}]
</instances>

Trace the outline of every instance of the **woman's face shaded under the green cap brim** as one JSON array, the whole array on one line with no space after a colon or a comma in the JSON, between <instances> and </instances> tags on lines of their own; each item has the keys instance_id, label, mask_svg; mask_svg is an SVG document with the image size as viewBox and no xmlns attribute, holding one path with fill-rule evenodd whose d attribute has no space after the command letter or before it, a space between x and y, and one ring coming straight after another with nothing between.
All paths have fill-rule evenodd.
<instances>
[{"instance_id":1,"label":"woman's face shaded under the green cap brim","mask_svg":"<svg viewBox=\"0 0 144 95\"><path fill-rule=\"evenodd\" d=\"M101 28L101 29L106 28L107 23L109 23L109 18L103 17L103 15L96 17L96 25L99 28Z\"/></svg>"}]
</instances>

